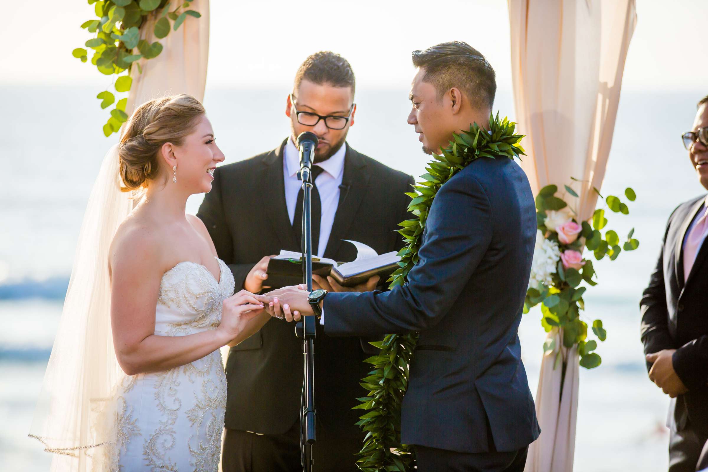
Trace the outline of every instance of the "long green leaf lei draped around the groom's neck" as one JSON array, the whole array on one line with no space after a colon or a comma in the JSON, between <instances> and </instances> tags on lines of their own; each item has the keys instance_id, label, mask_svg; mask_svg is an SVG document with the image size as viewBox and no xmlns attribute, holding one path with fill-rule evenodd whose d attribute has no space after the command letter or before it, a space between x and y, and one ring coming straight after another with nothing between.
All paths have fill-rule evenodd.
<instances>
[{"instance_id":1,"label":"long green leaf lei draped around the groom's neck","mask_svg":"<svg viewBox=\"0 0 708 472\"><path fill-rule=\"evenodd\" d=\"M489 132L474 123L469 131L452 134L453 140L450 146L442 149L442 156L434 155L435 161L426 167L428 173L421 175L423 181L413 186L414 192L406 193L413 199L408 209L415 218L399 224L402 226L399 233L408 245L399 251L401 267L389 279L389 288L406 283L409 272L418 263L418 249L430 205L447 180L479 157L513 159L525 156L520 146L523 135L514 134L514 127L515 123L506 117L500 121L498 113L496 118L490 115ZM357 461L362 471L413 470L413 447L401 444L401 401L408 388L409 365L417 342L418 333L409 333L390 334L378 343L371 343L381 352L365 360L374 366L374 370L360 382L369 394L358 398L362 403L354 407L366 410L357 423L366 432Z\"/></svg>"}]
</instances>

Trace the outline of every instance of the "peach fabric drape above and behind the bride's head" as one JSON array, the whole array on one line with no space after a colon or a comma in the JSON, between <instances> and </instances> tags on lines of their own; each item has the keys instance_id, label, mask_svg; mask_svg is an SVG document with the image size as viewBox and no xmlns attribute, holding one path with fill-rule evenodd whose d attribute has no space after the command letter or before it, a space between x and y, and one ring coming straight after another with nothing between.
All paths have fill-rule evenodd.
<instances>
[{"instance_id":1,"label":"peach fabric drape above and behind the bride's head","mask_svg":"<svg viewBox=\"0 0 708 472\"><path fill-rule=\"evenodd\" d=\"M172 1L175 6L179 3ZM163 49L157 57L138 61L142 74L137 67L132 68L133 82L125 108L128 115L147 100L166 95L187 93L197 100L204 100L209 58L209 0L194 0L189 9L198 11L201 18L187 16L184 23L165 38L155 38L156 16L151 16L140 28L141 39L150 44L159 41Z\"/></svg>"}]
</instances>

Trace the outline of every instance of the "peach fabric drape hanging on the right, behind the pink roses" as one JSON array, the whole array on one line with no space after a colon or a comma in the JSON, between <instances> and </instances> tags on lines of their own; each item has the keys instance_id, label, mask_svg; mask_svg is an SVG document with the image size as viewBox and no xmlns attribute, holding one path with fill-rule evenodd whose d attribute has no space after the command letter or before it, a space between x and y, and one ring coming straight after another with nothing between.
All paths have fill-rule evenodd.
<instances>
[{"instance_id":1,"label":"peach fabric drape hanging on the right, behind the pink roses","mask_svg":"<svg viewBox=\"0 0 708 472\"><path fill-rule=\"evenodd\" d=\"M579 221L589 219L605 176L624 61L636 25L634 0L508 0L514 102L526 134L521 164L534 194L571 183ZM578 352L544 355L536 395L542 433L527 472L573 470L578 409ZM556 353L566 366L562 377ZM562 384L561 384L562 382Z\"/></svg>"}]
</instances>

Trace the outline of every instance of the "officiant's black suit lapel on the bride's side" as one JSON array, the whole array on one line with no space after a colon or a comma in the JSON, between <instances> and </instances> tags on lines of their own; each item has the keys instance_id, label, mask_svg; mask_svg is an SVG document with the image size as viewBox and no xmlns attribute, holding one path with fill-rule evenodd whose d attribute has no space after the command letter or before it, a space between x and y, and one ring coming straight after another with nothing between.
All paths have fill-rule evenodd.
<instances>
[{"instance_id":1,"label":"officiant's black suit lapel on the bride's side","mask_svg":"<svg viewBox=\"0 0 708 472\"><path fill-rule=\"evenodd\" d=\"M285 180L282 174L283 148L287 144L287 139L274 149L263 160L263 171L260 181L263 182L265 193L263 195L263 205L268 219L273 224L275 234L278 234L282 249L295 250L297 241L292 233L290 217L287 216L287 204L285 203Z\"/></svg>"}]
</instances>

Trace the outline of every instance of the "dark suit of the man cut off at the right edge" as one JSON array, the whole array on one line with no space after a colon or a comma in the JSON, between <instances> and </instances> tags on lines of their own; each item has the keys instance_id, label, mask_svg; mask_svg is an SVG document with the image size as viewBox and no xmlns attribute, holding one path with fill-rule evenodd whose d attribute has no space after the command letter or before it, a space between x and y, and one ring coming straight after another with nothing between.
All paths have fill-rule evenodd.
<instances>
[{"instance_id":1,"label":"dark suit of the man cut off at the right edge","mask_svg":"<svg viewBox=\"0 0 708 472\"><path fill-rule=\"evenodd\" d=\"M656 268L639 304L644 353L675 349L673 368L688 388L669 407L670 462L675 464L670 470L675 471L695 470L690 467L708 439L708 243L698 251L688 280L683 273L683 239L705 199L684 202L669 217ZM692 464L681 465L682 458Z\"/></svg>"}]
</instances>

